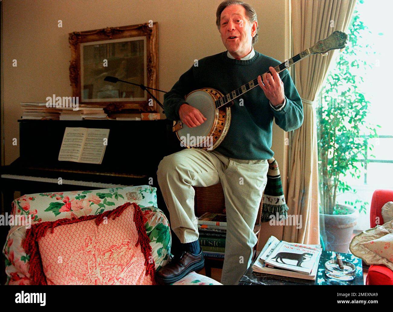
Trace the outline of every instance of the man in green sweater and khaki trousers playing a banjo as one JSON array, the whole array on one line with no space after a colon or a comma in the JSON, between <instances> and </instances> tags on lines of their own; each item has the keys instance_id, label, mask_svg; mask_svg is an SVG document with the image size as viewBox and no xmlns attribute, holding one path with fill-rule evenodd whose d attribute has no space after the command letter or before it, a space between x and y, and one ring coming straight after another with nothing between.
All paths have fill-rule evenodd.
<instances>
[{"instance_id":1,"label":"man in green sweater and khaki trousers playing a banjo","mask_svg":"<svg viewBox=\"0 0 393 312\"><path fill-rule=\"evenodd\" d=\"M217 27L227 51L205 57L192 66L164 96L167 118L198 127L206 118L184 100L189 92L211 87L227 94L258 77L259 87L234 100L231 126L213 151L187 149L160 162L158 183L168 207L171 227L181 252L158 271L158 280L172 283L204 266L198 243L193 186L221 182L227 215L222 284L237 284L252 260L257 243L253 227L266 186L267 159L273 157L272 122L291 131L303 122L303 106L288 70L273 67L281 62L254 51L258 38L255 10L248 4L227 0L216 13ZM270 70L272 74L259 76ZM241 103L242 102L242 103Z\"/></svg>"}]
</instances>

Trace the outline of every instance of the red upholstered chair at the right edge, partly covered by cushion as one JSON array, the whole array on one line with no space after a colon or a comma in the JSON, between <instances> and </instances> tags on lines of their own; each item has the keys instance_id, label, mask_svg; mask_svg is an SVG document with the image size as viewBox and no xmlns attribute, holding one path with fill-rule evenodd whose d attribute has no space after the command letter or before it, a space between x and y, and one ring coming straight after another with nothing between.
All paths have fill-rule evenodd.
<instances>
[{"instance_id":1,"label":"red upholstered chair at the right edge, partly covered by cushion","mask_svg":"<svg viewBox=\"0 0 393 312\"><path fill-rule=\"evenodd\" d=\"M370 225L376 226L384 224L382 218L382 206L388 201L393 201L393 190L375 190L373 199L371 199L370 210ZM383 264L371 264L367 278L366 285L393 285L393 271Z\"/></svg>"}]
</instances>

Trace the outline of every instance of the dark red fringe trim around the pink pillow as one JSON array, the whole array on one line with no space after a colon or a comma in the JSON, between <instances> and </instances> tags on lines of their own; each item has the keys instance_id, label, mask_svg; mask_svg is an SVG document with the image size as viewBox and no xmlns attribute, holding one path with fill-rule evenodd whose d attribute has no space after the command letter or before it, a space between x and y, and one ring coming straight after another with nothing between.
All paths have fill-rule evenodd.
<instances>
[{"instance_id":1,"label":"dark red fringe trim around the pink pillow","mask_svg":"<svg viewBox=\"0 0 393 312\"><path fill-rule=\"evenodd\" d=\"M152 249L150 246L150 239L146 233L145 223L143 222L142 210L136 203L125 203L117 207L116 209L105 211L102 214L98 214L96 216L94 215L81 216L75 219L64 218L56 221L47 221L47 222L42 222L39 224L32 225L31 228L26 231L26 238L23 242L23 248L25 249L26 254L30 255L29 274L30 274L31 281L33 281L33 284L47 285L46 277L42 267L38 240L41 237L45 236L48 229L50 229L51 233L53 233L55 227L58 227L60 225L72 224L72 223L82 222L92 219L95 219L95 224L99 225L101 222L103 222L105 217L107 217L108 219L111 217L112 219L115 219L116 217L120 216L123 213L123 211L128 207L130 207L131 205L134 206L134 222L135 222L136 229L138 231L138 240L135 246L138 245L141 246L141 251L143 253L143 256L145 257L146 275L150 274L153 284L156 284L155 282L156 269L155 269L154 259L151 255Z\"/></svg>"}]
</instances>

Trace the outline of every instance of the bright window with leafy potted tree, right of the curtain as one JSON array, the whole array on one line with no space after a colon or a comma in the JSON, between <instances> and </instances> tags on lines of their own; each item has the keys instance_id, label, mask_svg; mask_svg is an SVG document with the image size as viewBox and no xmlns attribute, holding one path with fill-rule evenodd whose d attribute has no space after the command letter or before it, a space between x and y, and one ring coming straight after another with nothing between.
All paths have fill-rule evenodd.
<instances>
[{"instance_id":1,"label":"bright window with leafy potted tree, right of the curtain","mask_svg":"<svg viewBox=\"0 0 393 312\"><path fill-rule=\"evenodd\" d=\"M390 103L391 28L389 12L371 0L358 1L349 44L323 85L316 108L321 236L327 250L347 252L352 231L370 227L374 190L393 189L393 105ZM337 205L338 204L338 205ZM342 206L340 206L342 205ZM347 206L349 208L347 208ZM359 216L353 220L354 208ZM334 226L345 215L347 225ZM346 229L351 236L347 237Z\"/></svg>"}]
</instances>

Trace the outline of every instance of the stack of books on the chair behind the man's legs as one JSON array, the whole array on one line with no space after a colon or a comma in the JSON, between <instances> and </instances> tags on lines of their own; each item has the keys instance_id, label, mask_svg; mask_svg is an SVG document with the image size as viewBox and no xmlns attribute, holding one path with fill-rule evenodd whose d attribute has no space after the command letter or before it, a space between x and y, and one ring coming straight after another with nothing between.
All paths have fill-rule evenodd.
<instances>
[{"instance_id":1,"label":"stack of books on the chair behind the man's legs","mask_svg":"<svg viewBox=\"0 0 393 312\"><path fill-rule=\"evenodd\" d=\"M224 258L226 215L206 212L198 218L199 244L205 257Z\"/></svg>"}]
</instances>

